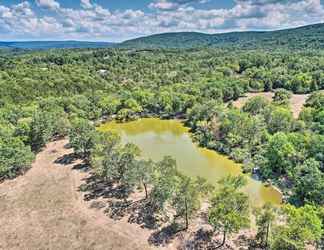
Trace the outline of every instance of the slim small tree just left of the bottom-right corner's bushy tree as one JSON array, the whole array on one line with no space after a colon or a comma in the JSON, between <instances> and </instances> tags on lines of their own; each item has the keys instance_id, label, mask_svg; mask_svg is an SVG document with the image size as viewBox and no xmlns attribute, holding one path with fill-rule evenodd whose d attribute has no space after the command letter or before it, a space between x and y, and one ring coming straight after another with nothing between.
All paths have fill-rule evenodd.
<instances>
[{"instance_id":1,"label":"slim small tree just left of the bottom-right corner's bushy tree","mask_svg":"<svg viewBox=\"0 0 324 250\"><path fill-rule=\"evenodd\" d=\"M263 249L268 249L271 227L276 218L276 209L271 203L266 203L262 208L256 209L255 215L258 227L256 238Z\"/></svg>"}]
</instances>

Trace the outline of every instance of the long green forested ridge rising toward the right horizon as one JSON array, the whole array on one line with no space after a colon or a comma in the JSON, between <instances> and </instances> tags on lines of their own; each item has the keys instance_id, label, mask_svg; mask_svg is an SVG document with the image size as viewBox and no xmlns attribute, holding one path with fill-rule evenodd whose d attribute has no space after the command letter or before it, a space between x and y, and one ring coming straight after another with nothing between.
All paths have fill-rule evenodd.
<instances>
[{"instance_id":1,"label":"long green forested ridge rising toward the right horizon","mask_svg":"<svg viewBox=\"0 0 324 250\"><path fill-rule=\"evenodd\" d=\"M126 48L324 48L324 24L314 24L279 31L249 31L223 34L197 32L164 33L125 41Z\"/></svg>"}]
</instances>

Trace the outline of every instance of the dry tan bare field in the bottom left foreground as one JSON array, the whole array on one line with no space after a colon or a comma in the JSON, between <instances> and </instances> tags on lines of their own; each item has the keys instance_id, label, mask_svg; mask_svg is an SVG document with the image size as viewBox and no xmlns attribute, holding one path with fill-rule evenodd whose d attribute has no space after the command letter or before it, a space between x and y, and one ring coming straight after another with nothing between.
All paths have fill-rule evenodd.
<instances>
[{"instance_id":1,"label":"dry tan bare field in the bottom left foreground","mask_svg":"<svg viewBox=\"0 0 324 250\"><path fill-rule=\"evenodd\" d=\"M150 249L148 230L89 208L80 162L55 163L72 153L66 144L49 143L30 171L0 184L0 249Z\"/></svg>"}]
</instances>

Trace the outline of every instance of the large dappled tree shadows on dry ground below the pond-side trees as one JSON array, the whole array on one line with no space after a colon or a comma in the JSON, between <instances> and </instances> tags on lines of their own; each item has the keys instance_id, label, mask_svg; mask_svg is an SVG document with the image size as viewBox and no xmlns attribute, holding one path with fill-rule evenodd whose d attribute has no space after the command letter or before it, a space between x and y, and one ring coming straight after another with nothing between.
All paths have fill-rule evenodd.
<instances>
[{"instance_id":1,"label":"large dappled tree shadows on dry ground below the pond-side trees","mask_svg":"<svg viewBox=\"0 0 324 250\"><path fill-rule=\"evenodd\" d=\"M161 224L166 222L165 218L157 216L158 213L152 209L149 199L132 199L134 198L131 195L133 192L127 186L98 179L93 174L83 181L79 191L85 193L84 200L91 202L91 208L102 209L107 216L114 220L127 218L129 223L156 230L149 237L149 244L167 245L181 235L182 230L179 230L176 223L158 230Z\"/></svg>"}]
</instances>

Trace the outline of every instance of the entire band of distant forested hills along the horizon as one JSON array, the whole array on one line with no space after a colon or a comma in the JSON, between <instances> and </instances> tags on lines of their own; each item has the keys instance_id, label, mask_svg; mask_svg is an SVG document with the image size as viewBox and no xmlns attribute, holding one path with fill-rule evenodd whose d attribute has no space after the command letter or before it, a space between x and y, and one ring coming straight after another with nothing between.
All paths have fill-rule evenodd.
<instances>
[{"instance_id":1,"label":"entire band of distant forested hills along the horizon","mask_svg":"<svg viewBox=\"0 0 324 250\"><path fill-rule=\"evenodd\" d=\"M262 50L303 50L324 48L324 24L275 31L243 31L219 34L199 32L161 33L139 37L120 43L87 41L9 41L1 42L0 49L63 49L63 48L130 48L130 49L185 49L224 48Z\"/></svg>"}]
</instances>

